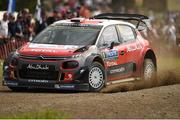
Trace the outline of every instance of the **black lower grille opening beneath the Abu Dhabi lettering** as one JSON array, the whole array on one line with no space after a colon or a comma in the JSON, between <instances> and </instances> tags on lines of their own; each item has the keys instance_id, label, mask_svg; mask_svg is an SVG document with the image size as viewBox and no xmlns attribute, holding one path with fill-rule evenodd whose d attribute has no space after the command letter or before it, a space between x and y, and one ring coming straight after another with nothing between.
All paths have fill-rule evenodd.
<instances>
[{"instance_id":1,"label":"black lower grille opening beneath the Abu Dhabi lettering","mask_svg":"<svg viewBox=\"0 0 180 120\"><path fill-rule=\"evenodd\" d=\"M19 70L19 77L22 79L36 79L36 80L57 80L58 71L55 71L54 66L49 66L49 70L35 70L28 69L27 65L23 65Z\"/></svg>"}]
</instances>

